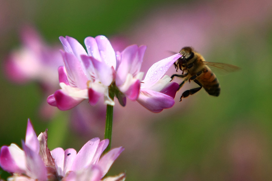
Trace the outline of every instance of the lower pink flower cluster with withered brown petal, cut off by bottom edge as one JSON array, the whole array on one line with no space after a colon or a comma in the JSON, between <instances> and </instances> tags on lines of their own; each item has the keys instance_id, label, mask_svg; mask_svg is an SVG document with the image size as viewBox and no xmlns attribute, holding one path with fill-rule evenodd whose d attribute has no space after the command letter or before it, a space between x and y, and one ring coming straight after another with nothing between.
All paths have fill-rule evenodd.
<instances>
[{"instance_id":1,"label":"lower pink flower cluster with withered brown petal, cut off by bottom edge","mask_svg":"<svg viewBox=\"0 0 272 181\"><path fill-rule=\"evenodd\" d=\"M121 181L125 173L107 176L106 173L115 159L124 150L114 148L103 156L108 146L108 139L89 140L77 153L75 149L47 147L47 130L37 137L30 120L28 120L25 141L22 149L16 144L2 146L0 166L11 173L9 181Z\"/></svg>"}]
</instances>

